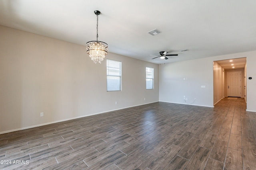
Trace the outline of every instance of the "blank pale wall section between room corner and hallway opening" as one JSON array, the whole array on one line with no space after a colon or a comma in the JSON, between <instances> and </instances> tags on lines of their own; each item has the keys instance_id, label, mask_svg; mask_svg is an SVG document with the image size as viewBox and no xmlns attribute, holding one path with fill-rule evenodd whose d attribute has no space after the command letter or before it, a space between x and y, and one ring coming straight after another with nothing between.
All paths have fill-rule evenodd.
<instances>
[{"instance_id":1,"label":"blank pale wall section between room corner and hallway opening","mask_svg":"<svg viewBox=\"0 0 256 170\"><path fill-rule=\"evenodd\" d=\"M159 100L213 107L213 61L203 58L159 65Z\"/></svg>"}]
</instances>

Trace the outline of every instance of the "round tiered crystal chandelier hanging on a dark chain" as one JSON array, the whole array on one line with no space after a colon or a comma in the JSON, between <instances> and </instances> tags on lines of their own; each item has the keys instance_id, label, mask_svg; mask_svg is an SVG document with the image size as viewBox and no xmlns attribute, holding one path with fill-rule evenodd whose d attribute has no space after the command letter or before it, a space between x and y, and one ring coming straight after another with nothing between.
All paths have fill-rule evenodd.
<instances>
[{"instance_id":1,"label":"round tiered crystal chandelier hanging on a dark chain","mask_svg":"<svg viewBox=\"0 0 256 170\"><path fill-rule=\"evenodd\" d=\"M98 16L100 15L100 11L94 11L94 14L97 15L97 41L89 41L86 43L86 53L89 54L92 61L96 64L101 63L105 55L108 54L108 44L98 41Z\"/></svg>"}]
</instances>

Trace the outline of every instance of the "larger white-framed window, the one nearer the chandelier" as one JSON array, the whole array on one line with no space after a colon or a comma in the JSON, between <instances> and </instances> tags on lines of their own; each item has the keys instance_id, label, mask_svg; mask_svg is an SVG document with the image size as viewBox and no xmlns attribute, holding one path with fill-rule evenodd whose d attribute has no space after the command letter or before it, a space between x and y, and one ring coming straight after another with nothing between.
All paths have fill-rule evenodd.
<instances>
[{"instance_id":1,"label":"larger white-framed window, the one nearer the chandelier","mask_svg":"<svg viewBox=\"0 0 256 170\"><path fill-rule=\"evenodd\" d=\"M121 91L122 63L107 59L107 91Z\"/></svg>"}]
</instances>

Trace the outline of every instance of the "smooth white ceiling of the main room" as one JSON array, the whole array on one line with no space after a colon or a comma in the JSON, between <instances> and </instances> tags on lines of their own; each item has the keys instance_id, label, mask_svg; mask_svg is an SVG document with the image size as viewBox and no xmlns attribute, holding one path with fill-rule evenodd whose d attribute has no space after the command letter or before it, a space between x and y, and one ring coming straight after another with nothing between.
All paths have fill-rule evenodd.
<instances>
[{"instance_id":1,"label":"smooth white ceiling of the main room","mask_svg":"<svg viewBox=\"0 0 256 170\"><path fill-rule=\"evenodd\" d=\"M86 45L94 10L109 52L151 63L256 50L256 0L0 0L0 25ZM152 60L160 51L178 56Z\"/></svg>"}]
</instances>

